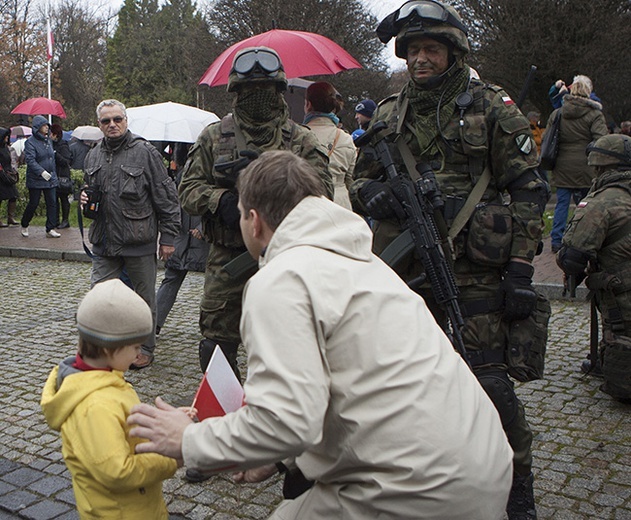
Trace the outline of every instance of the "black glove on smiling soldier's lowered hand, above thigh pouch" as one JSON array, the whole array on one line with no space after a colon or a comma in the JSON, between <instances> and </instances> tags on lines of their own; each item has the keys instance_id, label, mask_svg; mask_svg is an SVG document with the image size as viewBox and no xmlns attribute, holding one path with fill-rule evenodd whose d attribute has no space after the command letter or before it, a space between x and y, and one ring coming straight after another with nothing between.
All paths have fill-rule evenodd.
<instances>
[{"instance_id":1,"label":"black glove on smiling soldier's lowered hand, above thigh pouch","mask_svg":"<svg viewBox=\"0 0 631 520\"><path fill-rule=\"evenodd\" d=\"M535 310L537 293L532 287L535 269L530 264L509 262L504 270L504 314L506 321L525 320Z\"/></svg>"}]
</instances>

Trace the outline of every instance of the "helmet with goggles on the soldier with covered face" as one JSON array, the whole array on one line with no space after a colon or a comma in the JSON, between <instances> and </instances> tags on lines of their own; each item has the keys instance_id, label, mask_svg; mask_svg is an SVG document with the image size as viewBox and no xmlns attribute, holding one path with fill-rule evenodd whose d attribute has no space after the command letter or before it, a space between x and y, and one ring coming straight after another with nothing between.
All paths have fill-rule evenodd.
<instances>
[{"instance_id":1,"label":"helmet with goggles on the soldier with covered face","mask_svg":"<svg viewBox=\"0 0 631 520\"><path fill-rule=\"evenodd\" d=\"M235 54L228 76L228 92L235 92L239 85L255 81L273 81L279 92L287 90L283 62L274 49L246 47Z\"/></svg>"}]
</instances>

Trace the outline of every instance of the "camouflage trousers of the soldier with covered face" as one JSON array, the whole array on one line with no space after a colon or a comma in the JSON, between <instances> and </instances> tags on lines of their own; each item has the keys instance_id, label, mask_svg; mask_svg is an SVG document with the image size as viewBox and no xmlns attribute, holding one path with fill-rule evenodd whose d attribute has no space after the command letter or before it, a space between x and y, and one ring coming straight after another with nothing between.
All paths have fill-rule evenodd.
<instances>
[{"instance_id":1,"label":"camouflage trousers of the soldier with covered face","mask_svg":"<svg viewBox=\"0 0 631 520\"><path fill-rule=\"evenodd\" d=\"M234 279L223 266L243 252L245 248L231 249L217 244L210 246L199 315L199 328L205 338L236 344L241 342L241 297L249 277Z\"/></svg>"}]
</instances>

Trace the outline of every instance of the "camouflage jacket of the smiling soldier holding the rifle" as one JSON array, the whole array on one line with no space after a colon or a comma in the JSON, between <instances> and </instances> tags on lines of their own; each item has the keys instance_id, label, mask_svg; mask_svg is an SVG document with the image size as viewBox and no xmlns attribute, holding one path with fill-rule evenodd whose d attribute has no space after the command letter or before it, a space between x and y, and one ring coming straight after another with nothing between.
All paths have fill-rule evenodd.
<instances>
[{"instance_id":1,"label":"camouflage jacket of the smiling soldier holding the rifle","mask_svg":"<svg viewBox=\"0 0 631 520\"><path fill-rule=\"evenodd\" d=\"M398 96L391 96L381 102L372 120L372 124L379 120L388 124L386 139L399 172L407 172L394 144L394 139L399 135L407 143L417 162L431 165L443 198L448 204L453 200L464 202L482 172L488 168L491 180L482 201L502 204L505 200L503 195L510 196L510 256L532 260L543 229L542 213L548 186L537 173L537 148L528 120L500 87L472 79L469 93L473 96L473 103L463 111L455 108L448 121L441 121L442 137L436 137L441 153L428 156L419 149L412 111L405 110L406 91L407 87ZM384 170L374 157L362 152L355 167L355 181L351 187L353 207L360 213L365 213L366 208L358 192L369 179L384 180ZM448 225L450 221L447 218ZM377 253L396 234L393 233L394 227L398 232L398 223L380 222L375 227L374 248ZM455 240L457 258L463 257L465 239L466 228ZM457 274L458 271L476 269L476 266L458 264L457 261ZM475 283L473 280L459 278L459 284Z\"/></svg>"}]
</instances>

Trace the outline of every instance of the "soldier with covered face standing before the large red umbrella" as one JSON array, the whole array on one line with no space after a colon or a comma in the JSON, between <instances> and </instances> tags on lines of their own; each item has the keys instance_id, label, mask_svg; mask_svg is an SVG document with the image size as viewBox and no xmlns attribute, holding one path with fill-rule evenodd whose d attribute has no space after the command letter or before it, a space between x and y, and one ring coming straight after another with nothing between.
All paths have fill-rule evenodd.
<instances>
[{"instance_id":1,"label":"soldier with covered face standing before the large red umbrella","mask_svg":"<svg viewBox=\"0 0 631 520\"><path fill-rule=\"evenodd\" d=\"M235 92L233 113L206 127L189 152L179 186L184 211L201 215L206 240L211 243L201 301L200 342L202 370L219 344L238 374L241 295L249 274L230 276L223 266L246 253L239 230L236 175L247 163L241 152L291 150L306 159L322 177L332 197L333 185L326 151L307 127L289 119L283 97L287 79L278 54L265 47L247 48L234 58L228 92ZM233 164L217 169L218 164Z\"/></svg>"}]
</instances>

